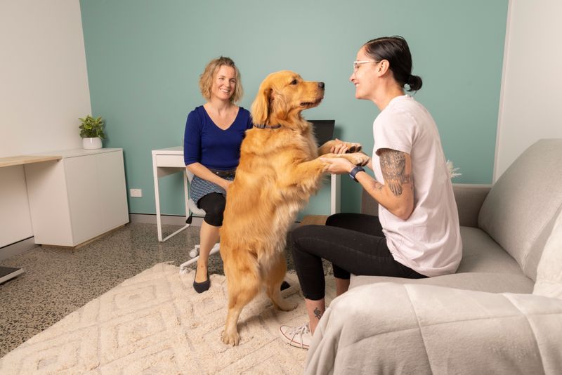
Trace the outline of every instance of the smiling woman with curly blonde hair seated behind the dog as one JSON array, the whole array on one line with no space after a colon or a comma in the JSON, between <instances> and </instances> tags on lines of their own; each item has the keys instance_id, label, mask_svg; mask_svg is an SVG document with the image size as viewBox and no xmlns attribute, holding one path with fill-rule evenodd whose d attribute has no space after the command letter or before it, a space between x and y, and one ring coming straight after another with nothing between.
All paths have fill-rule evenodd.
<instances>
[{"instance_id":1,"label":"smiling woman with curly blonde hair seated behind the dog","mask_svg":"<svg viewBox=\"0 0 562 375\"><path fill-rule=\"evenodd\" d=\"M211 60L199 80L207 103L188 114L183 137L185 168L193 173L190 197L205 211L200 231L200 257L193 288L207 291L209 252L223 224L226 190L240 160L244 132L252 126L250 113L236 103L242 98L240 71L221 56Z\"/></svg>"}]
</instances>

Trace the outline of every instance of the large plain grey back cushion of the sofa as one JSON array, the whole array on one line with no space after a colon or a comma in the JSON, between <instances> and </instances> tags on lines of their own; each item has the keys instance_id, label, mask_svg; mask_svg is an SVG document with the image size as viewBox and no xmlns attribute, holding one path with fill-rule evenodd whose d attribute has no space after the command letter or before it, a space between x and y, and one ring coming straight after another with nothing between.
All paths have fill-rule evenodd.
<instances>
[{"instance_id":1,"label":"large plain grey back cushion of the sofa","mask_svg":"<svg viewBox=\"0 0 562 375\"><path fill-rule=\"evenodd\" d=\"M532 279L562 206L561 165L562 139L537 141L493 185L478 216L478 226Z\"/></svg>"}]
</instances>

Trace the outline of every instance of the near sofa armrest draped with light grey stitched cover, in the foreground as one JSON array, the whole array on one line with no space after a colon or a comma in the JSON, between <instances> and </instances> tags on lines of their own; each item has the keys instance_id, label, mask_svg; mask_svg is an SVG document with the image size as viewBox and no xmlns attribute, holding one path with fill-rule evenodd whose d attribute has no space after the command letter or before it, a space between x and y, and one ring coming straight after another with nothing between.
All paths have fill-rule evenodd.
<instances>
[{"instance_id":1,"label":"near sofa armrest draped with light grey stitched cover, in the foreground","mask_svg":"<svg viewBox=\"0 0 562 375\"><path fill-rule=\"evenodd\" d=\"M562 301L431 285L347 291L322 315L305 374L556 374Z\"/></svg>"}]
</instances>

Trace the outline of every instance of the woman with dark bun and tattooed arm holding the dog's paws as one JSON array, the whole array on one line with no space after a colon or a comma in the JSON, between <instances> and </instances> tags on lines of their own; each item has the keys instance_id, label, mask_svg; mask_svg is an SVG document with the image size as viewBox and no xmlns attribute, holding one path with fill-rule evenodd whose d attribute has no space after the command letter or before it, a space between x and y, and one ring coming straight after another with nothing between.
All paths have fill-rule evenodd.
<instances>
[{"instance_id":1,"label":"woman with dark bun and tattooed arm holding the dog's paws","mask_svg":"<svg viewBox=\"0 0 562 375\"><path fill-rule=\"evenodd\" d=\"M422 278L454 273L462 242L457 205L435 121L404 91L421 88L403 37L367 41L349 79L355 98L381 111L373 123L374 148L367 166L325 158L330 173L348 173L378 203L379 216L336 213L326 225L292 232L293 258L308 322L280 327L284 341L307 348L325 311L322 258L332 262L336 294L347 291L351 273ZM345 149L334 152L345 152ZM385 303L385 301L381 301Z\"/></svg>"}]
</instances>

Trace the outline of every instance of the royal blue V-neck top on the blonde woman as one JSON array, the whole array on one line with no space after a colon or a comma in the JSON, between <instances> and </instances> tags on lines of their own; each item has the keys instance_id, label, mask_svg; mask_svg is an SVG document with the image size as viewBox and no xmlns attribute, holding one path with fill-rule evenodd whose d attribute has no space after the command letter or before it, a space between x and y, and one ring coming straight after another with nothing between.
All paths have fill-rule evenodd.
<instances>
[{"instance_id":1,"label":"royal blue V-neck top on the blonde woman","mask_svg":"<svg viewBox=\"0 0 562 375\"><path fill-rule=\"evenodd\" d=\"M183 135L185 165L199 162L210 169L230 171L240 162L240 145L244 132L251 129L250 112L243 107L226 130L216 126L202 105L188 114Z\"/></svg>"}]
</instances>

